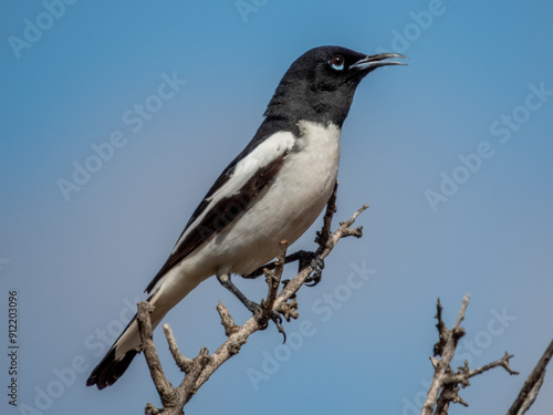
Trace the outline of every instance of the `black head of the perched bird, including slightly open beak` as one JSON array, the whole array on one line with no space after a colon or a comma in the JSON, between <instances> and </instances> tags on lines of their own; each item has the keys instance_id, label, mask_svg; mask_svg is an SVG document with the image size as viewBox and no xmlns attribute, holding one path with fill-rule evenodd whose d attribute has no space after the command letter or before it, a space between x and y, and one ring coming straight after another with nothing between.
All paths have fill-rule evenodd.
<instances>
[{"instance_id":1,"label":"black head of the perched bird, including slightly open beak","mask_svg":"<svg viewBox=\"0 0 553 415\"><path fill-rule=\"evenodd\" d=\"M405 56L366 55L341 46L312 49L292 63L264 115L289 123L306 120L342 126L363 77L379 66L404 64L388 58Z\"/></svg>"}]
</instances>

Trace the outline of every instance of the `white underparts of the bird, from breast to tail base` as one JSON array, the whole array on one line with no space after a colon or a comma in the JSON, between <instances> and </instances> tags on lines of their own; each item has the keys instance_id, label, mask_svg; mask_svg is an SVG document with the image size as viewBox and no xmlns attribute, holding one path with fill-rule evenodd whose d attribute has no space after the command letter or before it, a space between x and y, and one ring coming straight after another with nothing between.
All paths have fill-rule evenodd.
<instances>
[{"instance_id":1,"label":"white underparts of the bird, from breast to tail base","mask_svg":"<svg viewBox=\"0 0 553 415\"><path fill-rule=\"evenodd\" d=\"M219 271L253 272L276 257L281 240L293 243L315 221L336 183L340 128L304 122L300 131L274 181L249 210L158 281L150 301L156 322L201 281ZM288 143L285 134L282 138ZM275 152L282 151L279 143L273 144Z\"/></svg>"}]
</instances>

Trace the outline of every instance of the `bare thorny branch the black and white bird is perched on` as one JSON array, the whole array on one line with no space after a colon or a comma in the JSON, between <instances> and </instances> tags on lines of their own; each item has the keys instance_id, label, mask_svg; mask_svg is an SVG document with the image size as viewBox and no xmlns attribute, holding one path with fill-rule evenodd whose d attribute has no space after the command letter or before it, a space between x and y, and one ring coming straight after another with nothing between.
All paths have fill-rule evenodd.
<instances>
[{"instance_id":1,"label":"bare thorny branch the black and white bird is perched on","mask_svg":"<svg viewBox=\"0 0 553 415\"><path fill-rule=\"evenodd\" d=\"M315 242L319 243L316 253L321 259L326 258L334 249L336 243L349 236L361 238L363 236L362 227L352 229L351 226L355 222L368 205L362 206L354 215L344 222L340 224L338 229L331 232L332 218L336 212L336 191L337 183L334 191L326 205L326 211L323 219L323 228L317 232ZM175 359L175 362L185 372L185 378L174 387L165 377L165 374L157 355L157 351L153 341L152 324L149 313L152 309L146 302L138 303L138 328L140 331L140 340L143 344L144 355L146 357L152 378L156 385L157 392L161 398L163 408L158 409L152 404L147 404L145 413L149 415L180 415L185 405L191 400L196 392L209 380L227 360L240 352L241 346L247 342L248 338L267 326L267 319L270 313L280 313L290 321L298 318L298 301L295 293L305 283L310 282L311 273L314 271L312 264L306 264L292 280L286 281L285 287L278 292L281 281L284 263L286 259L288 242L280 243L280 252L273 267L267 267L265 273L269 286L267 300L262 302L261 315L253 315L243 325L237 325L229 313L229 310L221 303L217 305L221 324L225 328L227 341L223 342L212 354L209 354L206 347L202 347L195 359L185 357L178 350L175 336L168 324L164 324L164 332L169 344L169 350ZM298 255L300 258L300 255ZM273 268L274 271L270 269Z\"/></svg>"}]
</instances>

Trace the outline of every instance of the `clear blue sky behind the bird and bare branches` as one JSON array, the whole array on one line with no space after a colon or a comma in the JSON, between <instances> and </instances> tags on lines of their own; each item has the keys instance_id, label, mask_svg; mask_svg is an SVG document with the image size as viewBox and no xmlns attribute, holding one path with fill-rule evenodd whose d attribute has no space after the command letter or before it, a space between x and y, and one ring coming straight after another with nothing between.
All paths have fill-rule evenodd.
<instances>
[{"instance_id":1,"label":"clear blue sky behind the bird and bare branches","mask_svg":"<svg viewBox=\"0 0 553 415\"><path fill-rule=\"evenodd\" d=\"M20 406L2 395L2 413L158 404L142 356L111 388L84 383L282 74L322 44L410 59L363 81L343 128L336 220L371 204L365 236L342 241L322 283L300 292L300 319L286 324L295 343L280 346L272 328L252 336L187 413L415 413L432 374L436 299L452 324L467 292L455 363L508 350L522 375L474 378L462 391L470 408L450 413L505 413L553 338L553 6L69 3L0 6L0 286L2 304L18 291L20 344ZM295 246L312 248L314 232ZM348 286L359 274L365 283ZM248 319L211 279L166 318L187 355L223 341L219 299ZM8 383L6 363L1 373ZM547 376L531 413L553 406L552 391Z\"/></svg>"}]
</instances>

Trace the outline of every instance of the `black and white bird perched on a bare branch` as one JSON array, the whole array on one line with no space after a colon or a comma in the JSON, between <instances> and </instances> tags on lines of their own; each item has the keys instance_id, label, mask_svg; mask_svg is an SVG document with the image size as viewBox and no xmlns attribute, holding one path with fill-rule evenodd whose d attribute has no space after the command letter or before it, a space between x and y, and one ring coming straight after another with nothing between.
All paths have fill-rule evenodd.
<instances>
[{"instance_id":1,"label":"black and white bird perched on a bare branch","mask_svg":"<svg viewBox=\"0 0 553 415\"><path fill-rule=\"evenodd\" d=\"M291 64L253 138L217 178L147 286L153 328L212 276L250 311L259 307L231 276L252 276L276 257L281 240L293 243L320 216L336 183L341 131L356 87L377 68L405 64L394 58L407 59L325 45ZM322 260L313 261L320 270ZM113 385L139 352L135 315L86 385Z\"/></svg>"}]
</instances>

